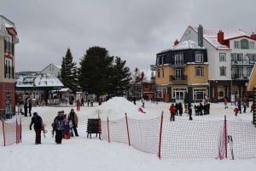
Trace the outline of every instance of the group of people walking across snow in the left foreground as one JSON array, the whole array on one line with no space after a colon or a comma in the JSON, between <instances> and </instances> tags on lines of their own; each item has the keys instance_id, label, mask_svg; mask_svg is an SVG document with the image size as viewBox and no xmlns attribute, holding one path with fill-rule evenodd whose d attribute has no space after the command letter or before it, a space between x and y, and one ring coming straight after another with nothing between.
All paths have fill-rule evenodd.
<instances>
[{"instance_id":1,"label":"group of people walking across snow in the left foreground","mask_svg":"<svg viewBox=\"0 0 256 171\"><path fill-rule=\"evenodd\" d=\"M64 114L64 111L58 111L57 116L55 117L52 123L52 135L55 134L55 143L61 144L62 139L70 139L70 136L79 136L78 134L78 123L79 117L73 109L67 114ZM44 122L42 117L38 115L37 112L33 113L33 117L30 123L30 130L32 130L32 125L35 130L36 139L35 144L41 144L41 132L46 133L44 129ZM74 134L73 134L74 133Z\"/></svg>"}]
</instances>

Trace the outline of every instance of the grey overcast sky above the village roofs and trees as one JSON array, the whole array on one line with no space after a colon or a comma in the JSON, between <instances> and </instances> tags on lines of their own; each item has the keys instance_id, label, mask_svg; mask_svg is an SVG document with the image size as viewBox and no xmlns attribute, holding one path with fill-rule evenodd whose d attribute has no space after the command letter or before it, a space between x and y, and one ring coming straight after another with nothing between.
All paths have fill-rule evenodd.
<instances>
[{"instance_id":1,"label":"grey overcast sky above the village roofs and trees","mask_svg":"<svg viewBox=\"0 0 256 171\"><path fill-rule=\"evenodd\" d=\"M16 71L61 66L67 48L79 64L93 46L148 69L188 26L256 32L255 0L0 0L0 14L15 22L20 43Z\"/></svg>"}]
</instances>

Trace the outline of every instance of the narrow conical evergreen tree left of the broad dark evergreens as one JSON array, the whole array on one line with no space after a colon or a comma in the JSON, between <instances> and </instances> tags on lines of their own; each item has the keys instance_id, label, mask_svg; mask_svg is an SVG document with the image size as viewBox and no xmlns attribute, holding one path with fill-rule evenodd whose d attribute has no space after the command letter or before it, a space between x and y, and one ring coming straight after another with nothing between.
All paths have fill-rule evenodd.
<instances>
[{"instance_id":1,"label":"narrow conical evergreen tree left of the broad dark evergreens","mask_svg":"<svg viewBox=\"0 0 256 171\"><path fill-rule=\"evenodd\" d=\"M70 48L67 48L67 54L62 58L61 82L65 87L70 88L73 93L78 90L77 67L76 63L73 62Z\"/></svg>"}]
</instances>

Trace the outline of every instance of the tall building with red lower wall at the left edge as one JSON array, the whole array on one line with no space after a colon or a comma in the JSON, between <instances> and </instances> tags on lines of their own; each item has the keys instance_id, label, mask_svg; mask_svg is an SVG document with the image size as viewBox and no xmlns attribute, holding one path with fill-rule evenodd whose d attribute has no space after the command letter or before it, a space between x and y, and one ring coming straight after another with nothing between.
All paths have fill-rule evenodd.
<instances>
[{"instance_id":1,"label":"tall building with red lower wall at the left edge","mask_svg":"<svg viewBox=\"0 0 256 171\"><path fill-rule=\"evenodd\" d=\"M0 14L0 118L15 114L15 23Z\"/></svg>"}]
</instances>

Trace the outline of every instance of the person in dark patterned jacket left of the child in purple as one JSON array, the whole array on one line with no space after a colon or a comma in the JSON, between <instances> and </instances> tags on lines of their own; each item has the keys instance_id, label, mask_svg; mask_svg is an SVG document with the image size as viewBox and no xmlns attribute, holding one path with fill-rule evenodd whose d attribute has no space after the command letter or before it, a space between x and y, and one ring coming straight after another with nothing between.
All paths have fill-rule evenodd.
<instances>
[{"instance_id":1,"label":"person in dark patterned jacket left of the child in purple","mask_svg":"<svg viewBox=\"0 0 256 171\"><path fill-rule=\"evenodd\" d=\"M65 127L65 117L63 114L64 111L58 111L58 114L54 119L54 123L52 124L53 134L55 133L56 144L61 144L63 138L63 131Z\"/></svg>"}]
</instances>

